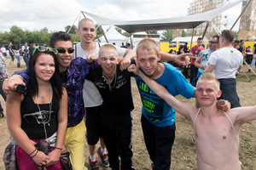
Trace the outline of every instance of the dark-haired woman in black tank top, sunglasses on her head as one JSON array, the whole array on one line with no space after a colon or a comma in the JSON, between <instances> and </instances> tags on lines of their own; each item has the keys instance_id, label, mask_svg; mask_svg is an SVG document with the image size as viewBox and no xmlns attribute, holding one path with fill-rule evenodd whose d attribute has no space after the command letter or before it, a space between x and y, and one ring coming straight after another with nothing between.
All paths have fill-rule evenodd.
<instances>
[{"instance_id":1,"label":"dark-haired woman in black tank top, sunglasses on her head","mask_svg":"<svg viewBox=\"0 0 256 170\"><path fill-rule=\"evenodd\" d=\"M57 50L36 47L28 61L30 82L25 92L13 92L6 102L9 132L16 142L22 169L61 169L67 130L67 92L61 86ZM47 142L46 153L38 144Z\"/></svg>"}]
</instances>

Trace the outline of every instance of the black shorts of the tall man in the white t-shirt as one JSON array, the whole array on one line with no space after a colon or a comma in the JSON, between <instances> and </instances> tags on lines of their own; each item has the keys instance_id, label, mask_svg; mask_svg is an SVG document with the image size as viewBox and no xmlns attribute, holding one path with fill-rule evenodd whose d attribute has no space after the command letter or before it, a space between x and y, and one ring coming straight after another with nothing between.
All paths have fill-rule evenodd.
<instances>
[{"instance_id":1,"label":"black shorts of the tall man in the white t-shirt","mask_svg":"<svg viewBox=\"0 0 256 170\"><path fill-rule=\"evenodd\" d=\"M95 145L102 138L102 105L85 108L85 126L87 143Z\"/></svg>"}]
</instances>

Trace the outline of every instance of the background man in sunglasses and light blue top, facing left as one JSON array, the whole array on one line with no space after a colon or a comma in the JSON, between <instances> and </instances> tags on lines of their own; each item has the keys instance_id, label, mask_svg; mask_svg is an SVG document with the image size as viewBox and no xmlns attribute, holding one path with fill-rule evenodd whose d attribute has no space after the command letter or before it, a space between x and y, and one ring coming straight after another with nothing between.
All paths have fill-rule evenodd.
<instances>
[{"instance_id":1,"label":"background man in sunglasses and light blue top, facing left","mask_svg":"<svg viewBox=\"0 0 256 170\"><path fill-rule=\"evenodd\" d=\"M199 77L201 77L201 74L207 68L208 60L209 60L212 52L216 51L218 49L218 41L219 41L218 35L212 36L208 43L209 48L202 50L198 54L198 57L195 59L195 66L198 68L198 72L197 72L197 76L194 78L193 82L191 82L192 86L195 87L197 80L199 79Z\"/></svg>"}]
</instances>

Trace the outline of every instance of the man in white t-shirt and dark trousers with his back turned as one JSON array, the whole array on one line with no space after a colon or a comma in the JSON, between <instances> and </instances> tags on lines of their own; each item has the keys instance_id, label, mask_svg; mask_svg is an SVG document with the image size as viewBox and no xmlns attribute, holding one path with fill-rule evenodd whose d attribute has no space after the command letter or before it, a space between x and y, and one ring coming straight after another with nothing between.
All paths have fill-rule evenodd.
<instances>
[{"instance_id":1,"label":"man in white t-shirt and dark trousers with his back turned","mask_svg":"<svg viewBox=\"0 0 256 170\"><path fill-rule=\"evenodd\" d=\"M236 71L241 69L243 56L232 46L234 31L224 30L219 38L220 49L213 52L205 72L212 72L220 82L222 94L218 99L229 100L231 108L241 107L236 93Z\"/></svg>"}]
</instances>

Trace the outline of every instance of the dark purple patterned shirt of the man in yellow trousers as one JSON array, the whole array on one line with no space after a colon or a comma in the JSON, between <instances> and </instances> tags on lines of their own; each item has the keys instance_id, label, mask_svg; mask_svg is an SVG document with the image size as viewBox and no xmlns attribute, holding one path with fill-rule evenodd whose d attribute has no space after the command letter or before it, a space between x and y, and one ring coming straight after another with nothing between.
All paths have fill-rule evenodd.
<instances>
[{"instance_id":1,"label":"dark purple patterned shirt of the man in yellow trousers","mask_svg":"<svg viewBox=\"0 0 256 170\"><path fill-rule=\"evenodd\" d=\"M62 80L63 86L67 89L67 127L74 127L83 120L85 115L83 101L84 78L90 70L98 66L97 62L87 63L86 59L76 58L67 67L67 82ZM29 82L27 71L16 71L14 75L23 77L26 85Z\"/></svg>"}]
</instances>

